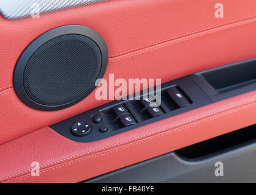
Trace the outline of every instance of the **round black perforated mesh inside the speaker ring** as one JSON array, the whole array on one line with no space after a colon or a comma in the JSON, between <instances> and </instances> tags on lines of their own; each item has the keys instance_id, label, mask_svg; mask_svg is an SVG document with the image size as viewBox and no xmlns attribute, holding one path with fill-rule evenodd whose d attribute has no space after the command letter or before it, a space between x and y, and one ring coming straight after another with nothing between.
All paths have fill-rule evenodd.
<instances>
[{"instance_id":1,"label":"round black perforated mesh inside the speaker ring","mask_svg":"<svg viewBox=\"0 0 256 195\"><path fill-rule=\"evenodd\" d=\"M28 96L42 105L62 105L86 94L102 66L97 44L78 34L53 38L40 46L24 69Z\"/></svg>"}]
</instances>

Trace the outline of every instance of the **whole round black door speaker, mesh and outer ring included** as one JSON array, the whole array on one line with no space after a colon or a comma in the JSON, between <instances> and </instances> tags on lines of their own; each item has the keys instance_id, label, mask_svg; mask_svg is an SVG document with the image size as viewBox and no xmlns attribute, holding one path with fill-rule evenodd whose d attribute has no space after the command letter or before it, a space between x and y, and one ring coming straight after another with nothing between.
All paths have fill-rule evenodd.
<instances>
[{"instance_id":1,"label":"whole round black door speaker, mesh and outer ring included","mask_svg":"<svg viewBox=\"0 0 256 195\"><path fill-rule=\"evenodd\" d=\"M21 54L14 87L38 110L59 110L88 96L107 68L107 46L96 31L62 26L40 35Z\"/></svg>"}]
</instances>

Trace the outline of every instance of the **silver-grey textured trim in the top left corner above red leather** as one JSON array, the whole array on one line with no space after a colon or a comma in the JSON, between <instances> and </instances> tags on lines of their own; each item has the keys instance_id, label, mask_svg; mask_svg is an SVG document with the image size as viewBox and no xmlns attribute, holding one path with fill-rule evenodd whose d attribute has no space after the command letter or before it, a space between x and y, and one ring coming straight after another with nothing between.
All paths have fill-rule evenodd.
<instances>
[{"instance_id":1,"label":"silver-grey textured trim in the top left corner above red leather","mask_svg":"<svg viewBox=\"0 0 256 195\"><path fill-rule=\"evenodd\" d=\"M110 0L0 0L0 13L7 19L21 19L104 1Z\"/></svg>"}]
</instances>

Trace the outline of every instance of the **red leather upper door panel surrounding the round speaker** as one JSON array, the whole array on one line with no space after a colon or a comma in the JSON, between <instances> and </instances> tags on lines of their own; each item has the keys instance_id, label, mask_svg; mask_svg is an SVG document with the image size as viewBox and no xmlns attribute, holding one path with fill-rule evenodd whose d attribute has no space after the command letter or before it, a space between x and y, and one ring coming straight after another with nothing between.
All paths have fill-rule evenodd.
<instances>
[{"instance_id":1,"label":"red leather upper door panel surrounding the round speaker","mask_svg":"<svg viewBox=\"0 0 256 195\"><path fill-rule=\"evenodd\" d=\"M91 27L102 35L110 52L106 78L115 73L116 78L166 82L255 57L255 0L222 2L224 18L214 17L213 0L113 0L40 18L0 18L0 144L105 103L96 101L92 93L65 110L40 112L17 98L12 88L15 63L43 32L65 24Z\"/></svg>"}]
</instances>

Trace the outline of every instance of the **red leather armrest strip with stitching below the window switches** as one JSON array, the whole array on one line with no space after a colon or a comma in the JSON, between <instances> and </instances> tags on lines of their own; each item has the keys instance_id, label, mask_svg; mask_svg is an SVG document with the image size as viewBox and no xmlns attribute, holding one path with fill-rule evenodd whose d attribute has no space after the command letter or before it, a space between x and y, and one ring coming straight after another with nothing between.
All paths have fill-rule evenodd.
<instances>
[{"instance_id":1,"label":"red leather armrest strip with stitching below the window switches","mask_svg":"<svg viewBox=\"0 0 256 195\"><path fill-rule=\"evenodd\" d=\"M0 146L1 182L80 182L256 123L256 91L92 143L49 127ZM31 176L31 163L40 176Z\"/></svg>"}]
</instances>

